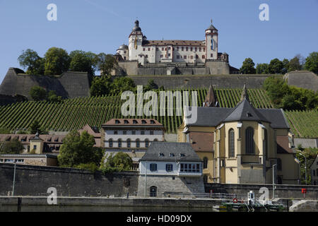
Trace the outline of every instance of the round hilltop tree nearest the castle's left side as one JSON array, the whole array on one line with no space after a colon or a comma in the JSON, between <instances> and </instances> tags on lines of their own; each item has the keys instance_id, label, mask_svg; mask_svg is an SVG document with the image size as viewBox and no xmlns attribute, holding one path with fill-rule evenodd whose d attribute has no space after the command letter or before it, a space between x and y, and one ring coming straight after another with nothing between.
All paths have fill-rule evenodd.
<instances>
[{"instance_id":1,"label":"round hilltop tree nearest the castle's left side","mask_svg":"<svg viewBox=\"0 0 318 226\"><path fill-rule=\"evenodd\" d=\"M113 69L117 67L117 61L112 54L100 53L95 58L95 64L102 76L110 75Z\"/></svg>"}]
</instances>

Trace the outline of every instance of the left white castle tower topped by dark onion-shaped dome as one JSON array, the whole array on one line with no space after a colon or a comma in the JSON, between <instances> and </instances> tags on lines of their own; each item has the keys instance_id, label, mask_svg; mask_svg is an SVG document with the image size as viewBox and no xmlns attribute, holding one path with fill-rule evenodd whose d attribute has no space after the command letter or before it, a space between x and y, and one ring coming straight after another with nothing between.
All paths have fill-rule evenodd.
<instances>
[{"instance_id":1,"label":"left white castle tower topped by dark onion-shaped dome","mask_svg":"<svg viewBox=\"0 0 318 226\"><path fill-rule=\"evenodd\" d=\"M143 42L143 33L139 28L139 20L135 21L135 26L129 35L129 60L137 60L141 53L141 44Z\"/></svg>"}]
</instances>

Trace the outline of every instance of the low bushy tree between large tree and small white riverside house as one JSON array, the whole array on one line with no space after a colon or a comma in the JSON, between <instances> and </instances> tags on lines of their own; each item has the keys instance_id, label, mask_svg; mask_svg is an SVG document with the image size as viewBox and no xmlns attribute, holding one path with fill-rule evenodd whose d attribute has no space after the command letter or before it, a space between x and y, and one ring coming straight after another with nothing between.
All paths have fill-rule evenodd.
<instances>
[{"instance_id":1,"label":"low bushy tree between large tree and small white riverside house","mask_svg":"<svg viewBox=\"0 0 318 226\"><path fill-rule=\"evenodd\" d=\"M113 153L102 157L100 170L102 172L119 172L131 169L133 162L131 157L123 152Z\"/></svg>"}]
</instances>

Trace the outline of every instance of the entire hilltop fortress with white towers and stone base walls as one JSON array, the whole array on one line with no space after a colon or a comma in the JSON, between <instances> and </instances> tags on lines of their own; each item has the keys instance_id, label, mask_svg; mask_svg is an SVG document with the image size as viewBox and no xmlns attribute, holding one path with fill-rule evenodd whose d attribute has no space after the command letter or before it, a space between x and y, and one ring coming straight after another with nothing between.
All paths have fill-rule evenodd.
<instances>
[{"instance_id":1,"label":"entire hilltop fortress with white towers and stone base walls","mask_svg":"<svg viewBox=\"0 0 318 226\"><path fill-rule=\"evenodd\" d=\"M113 75L174 75L239 73L226 52L218 52L218 29L205 30L205 40L147 40L139 20L115 54L119 63Z\"/></svg>"}]
</instances>

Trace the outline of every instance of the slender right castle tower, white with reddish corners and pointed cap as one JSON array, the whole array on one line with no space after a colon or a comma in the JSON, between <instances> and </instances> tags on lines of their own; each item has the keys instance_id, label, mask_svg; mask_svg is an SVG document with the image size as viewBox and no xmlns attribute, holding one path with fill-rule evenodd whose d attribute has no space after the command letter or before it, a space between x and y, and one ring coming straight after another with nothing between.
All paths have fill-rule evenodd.
<instances>
[{"instance_id":1,"label":"slender right castle tower, white with reddish corners and pointed cap","mask_svg":"<svg viewBox=\"0 0 318 226\"><path fill-rule=\"evenodd\" d=\"M206 59L218 59L218 29L211 25L206 29Z\"/></svg>"}]
</instances>

